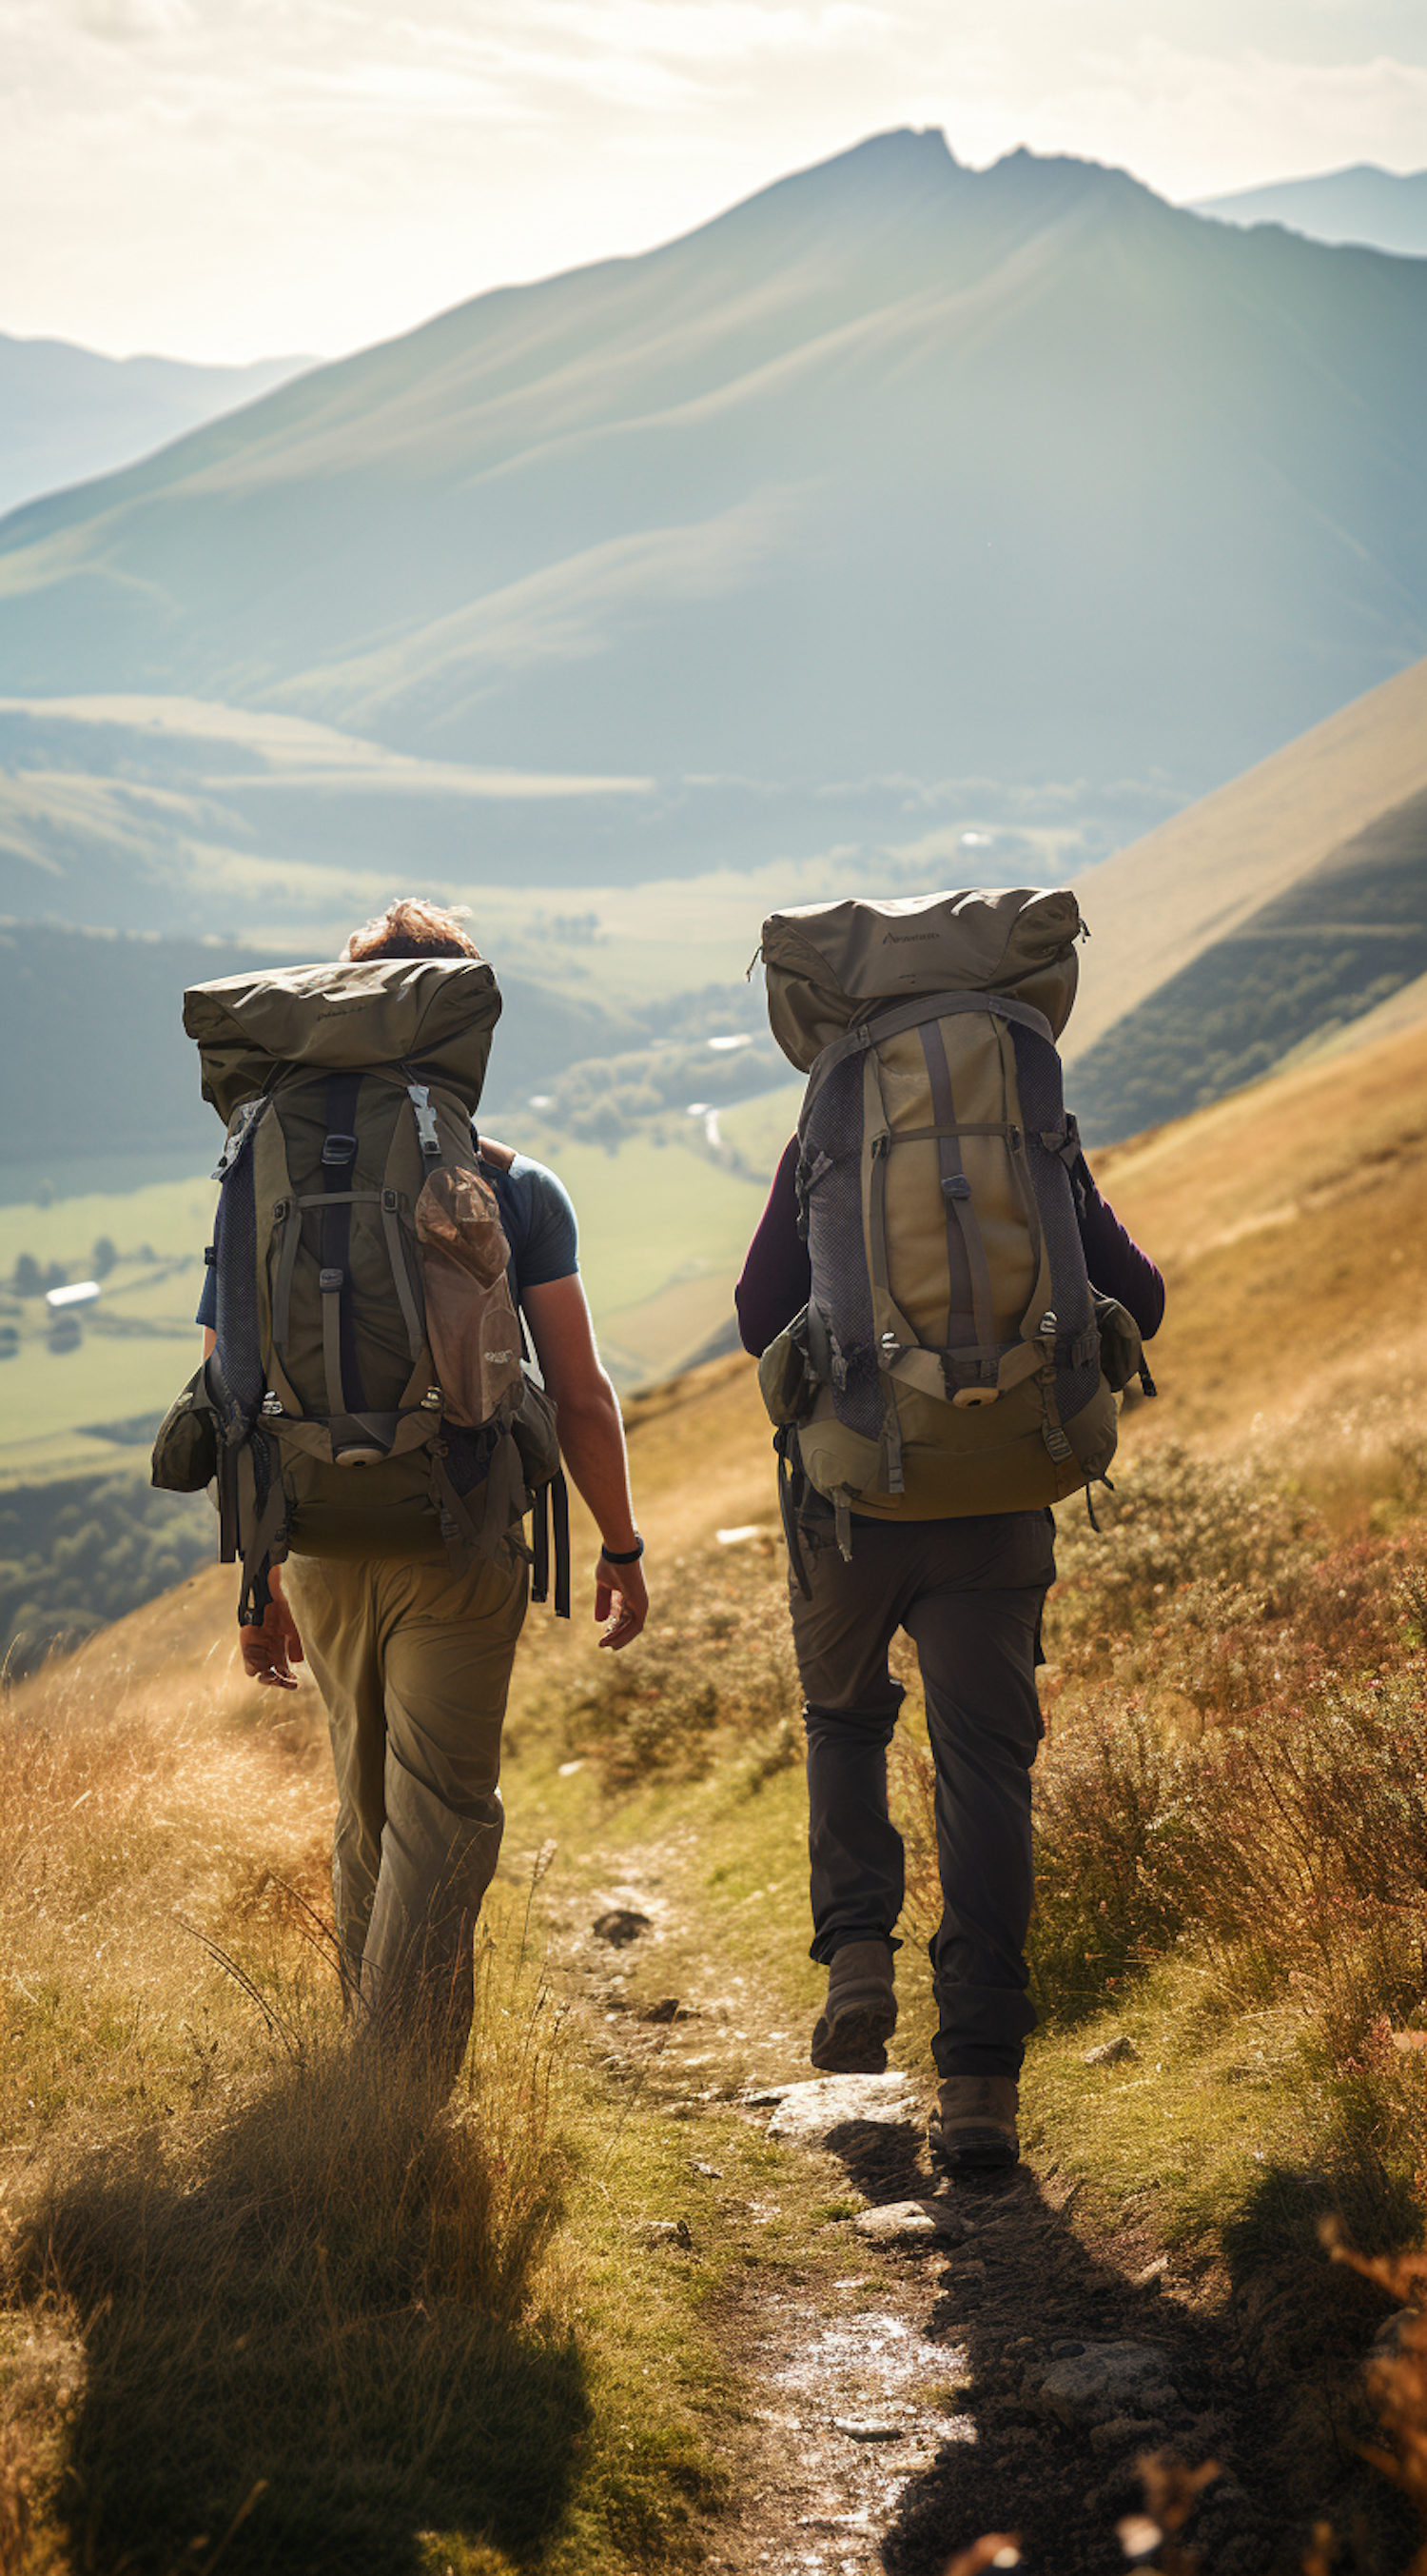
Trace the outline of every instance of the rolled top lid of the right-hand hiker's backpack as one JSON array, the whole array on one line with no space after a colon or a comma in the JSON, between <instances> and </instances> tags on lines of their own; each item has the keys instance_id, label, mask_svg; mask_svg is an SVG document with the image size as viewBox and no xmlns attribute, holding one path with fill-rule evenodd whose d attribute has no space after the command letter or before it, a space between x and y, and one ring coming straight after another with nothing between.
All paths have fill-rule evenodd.
<instances>
[{"instance_id":1,"label":"rolled top lid of the right-hand hiker's backpack","mask_svg":"<svg viewBox=\"0 0 1427 2576\"><path fill-rule=\"evenodd\" d=\"M1059 1038L1079 981L1082 927L1069 886L793 904L762 925L768 1020L804 1074L878 1002L922 992L1015 992Z\"/></svg>"}]
</instances>

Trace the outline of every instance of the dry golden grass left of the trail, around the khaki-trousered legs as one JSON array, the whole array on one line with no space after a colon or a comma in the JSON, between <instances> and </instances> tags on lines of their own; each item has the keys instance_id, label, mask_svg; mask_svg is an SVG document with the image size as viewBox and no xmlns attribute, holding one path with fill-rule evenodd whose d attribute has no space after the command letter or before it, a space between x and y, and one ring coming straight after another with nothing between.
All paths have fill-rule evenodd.
<instances>
[{"instance_id":1,"label":"dry golden grass left of the trail, around the khaki-trousered legs","mask_svg":"<svg viewBox=\"0 0 1427 2576\"><path fill-rule=\"evenodd\" d=\"M497 2568L590 2411L559 2014L497 1909L448 2105L350 2045L317 1695L242 1685L224 1613L139 1613L0 1721L0 2566L415 2568L430 2524Z\"/></svg>"}]
</instances>

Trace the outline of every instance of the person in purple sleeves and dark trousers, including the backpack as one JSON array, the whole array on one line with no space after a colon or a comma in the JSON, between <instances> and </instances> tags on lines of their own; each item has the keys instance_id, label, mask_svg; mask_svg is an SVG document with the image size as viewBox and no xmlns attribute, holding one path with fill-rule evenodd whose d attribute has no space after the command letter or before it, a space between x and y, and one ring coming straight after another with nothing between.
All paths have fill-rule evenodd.
<instances>
[{"instance_id":1,"label":"person in purple sleeves and dark trousers, including the backpack","mask_svg":"<svg viewBox=\"0 0 1427 2576\"><path fill-rule=\"evenodd\" d=\"M1136 1368L1154 1391L1141 1340L1164 1314L1061 1110L1079 930L1072 894L1015 889L804 907L760 951L773 1033L811 1074L737 1285L778 1425L806 1700L811 2063L881 2074L896 2027L904 1628L935 1765L943 2172L1020 2156L1048 1504L1090 1502L1113 1391Z\"/></svg>"}]
</instances>

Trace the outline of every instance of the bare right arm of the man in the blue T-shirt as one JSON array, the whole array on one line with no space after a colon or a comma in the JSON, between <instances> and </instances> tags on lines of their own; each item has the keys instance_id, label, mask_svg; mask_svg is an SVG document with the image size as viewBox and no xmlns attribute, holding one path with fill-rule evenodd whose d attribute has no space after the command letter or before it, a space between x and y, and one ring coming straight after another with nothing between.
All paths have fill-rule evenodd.
<instances>
[{"instance_id":1,"label":"bare right arm of the man in the blue T-shirt","mask_svg":"<svg viewBox=\"0 0 1427 2576\"><path fill-rule=\"evenodd\" d=\"M595 1327L577 1275L525 1288L531 1340L559 1414L559 1445L574 1484L590 1504L605 1548L623 1556L636 1543L628 1499L628 1458L618 1396L595 1350ZM610 1615L613 1613L613 1615ZM631 1646L649 1618L644 1566L595 1566L595 1618L608 1620L600 1646Z\"/></svg>"}]
</instances>

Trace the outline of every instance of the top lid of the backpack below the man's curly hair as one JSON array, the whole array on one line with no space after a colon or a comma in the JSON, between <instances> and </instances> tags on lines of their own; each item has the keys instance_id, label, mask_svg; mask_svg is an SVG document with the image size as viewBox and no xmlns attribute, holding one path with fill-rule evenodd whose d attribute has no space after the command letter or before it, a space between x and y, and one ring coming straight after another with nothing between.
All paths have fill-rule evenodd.
<instances>
[{"instance_id":1,"label":"top lid of the backpack below the man's curly hair","mask_svg":"<svg viewBox=\"0 0 1427 2576\"><path fill-rule=\"evenodd\" d=\"M363 958L340 966L265 966L183 994L198 1041L203 1100L232 1118L276 1064L412 1064L474 1110L500 987L484 958Z\"/></svg>"}]
</instances>

